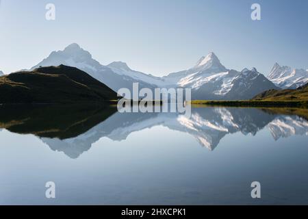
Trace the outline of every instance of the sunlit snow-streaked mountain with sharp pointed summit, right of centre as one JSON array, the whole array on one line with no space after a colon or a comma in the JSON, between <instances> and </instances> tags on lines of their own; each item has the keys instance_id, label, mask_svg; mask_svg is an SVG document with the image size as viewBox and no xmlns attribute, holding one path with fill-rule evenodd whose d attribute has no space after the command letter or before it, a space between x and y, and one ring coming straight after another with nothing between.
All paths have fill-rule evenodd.
<instances>
[{"instance_id":1,"label":"sunlit snow-streaked mountain with sharp pointed summit, right of centre","mask_svg":"<svg viewBox=\"0 0 308 219\"><path fill-rule=\"evenodd\" d=\"M239 100L251 99L269 89L279 89L253 68L241 72L225 68L214 53L209 53L188 70L164 77L173 86L192 88L192 99Z\"/></svg>"}]
</instances>

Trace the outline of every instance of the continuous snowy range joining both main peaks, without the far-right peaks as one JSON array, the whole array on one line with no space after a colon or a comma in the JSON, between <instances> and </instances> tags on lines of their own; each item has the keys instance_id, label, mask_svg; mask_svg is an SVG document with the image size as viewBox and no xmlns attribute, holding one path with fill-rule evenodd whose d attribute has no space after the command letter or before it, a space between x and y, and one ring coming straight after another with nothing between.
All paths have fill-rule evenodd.
<instances>
[{"instance_id":1,"label":"continuous snowy range joining both main peaks, without the far-right peaks","mask_svg":"<svg viewBox=\"0 0 308 219\"><path fill-rule=\"evenodd\" d=\"M124 62L112 62L103 66L78 44L70 44L64 51L53 51L31 69L39 66L74 66L105 83L114 91L120 88L132 90L133 82L140 88L192 88L192 99L251 99L270 89L279 89L255 68L242 71L225 68L214 53L201 57L188 70L170 73L164 77L154 77L132 70Z\"/></svg>"}]
</instances>

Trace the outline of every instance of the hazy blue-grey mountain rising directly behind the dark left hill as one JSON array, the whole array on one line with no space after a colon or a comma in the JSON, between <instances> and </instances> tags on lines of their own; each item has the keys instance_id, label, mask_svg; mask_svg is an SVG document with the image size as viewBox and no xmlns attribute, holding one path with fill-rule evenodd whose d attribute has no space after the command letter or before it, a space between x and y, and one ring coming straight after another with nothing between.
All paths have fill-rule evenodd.
<instances>
[{"instance_id":1,"label":"hazy blue-grey mountain rising directly behind the dark left hill","mask_svg":"<svg viewBox=\"0 0 308 219\"><path fill-rule=\"evenodd\" d=\"M164 82L157 77L131 70L124 62L113 62L109 66L103 66L77 43L69 44L63 51L53 51L49 57L31 69L39 66L58 66L60 64L84 70L116 92L120 88L132 90L133 82L139 82L140 88L155 88L156 83Z\"/></svg>"}]
</instances>

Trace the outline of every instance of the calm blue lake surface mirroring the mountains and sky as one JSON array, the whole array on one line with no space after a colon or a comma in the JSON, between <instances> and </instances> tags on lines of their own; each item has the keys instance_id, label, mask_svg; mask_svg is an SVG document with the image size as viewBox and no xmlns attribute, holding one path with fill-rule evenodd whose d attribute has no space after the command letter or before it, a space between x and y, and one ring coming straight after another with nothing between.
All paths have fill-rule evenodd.
<instances>
[{"instance_id":1,"label":"calm blue lake surface mirroring the mountains and sky","mask_svg":"<svg viewBox=\"0 0 308 219\"><path fill-rule=\"evenodd\" d=\"M308 204L305 110L0 108L1 205Z\"/></svg>"}]
</instances>

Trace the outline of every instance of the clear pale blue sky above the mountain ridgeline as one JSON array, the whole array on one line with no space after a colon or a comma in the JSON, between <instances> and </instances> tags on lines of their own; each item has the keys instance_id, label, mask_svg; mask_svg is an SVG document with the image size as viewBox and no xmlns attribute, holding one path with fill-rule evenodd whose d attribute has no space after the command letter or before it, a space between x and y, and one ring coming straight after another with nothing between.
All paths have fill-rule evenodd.
<instances>
[{"instance_id":1,"label":"clear pale blue sky above the mountain ridgeline","mask_svg":"<svg viewBox=\"0 0 308 219\"><path fill-rule=\"evenodd\" d=\"M54 3L55 21L45 5ZM251 20L251 4L261 21ZM214 51L227 68L274 62L308 68L305 0L2 0L0 70L29 68L77 42L101 64L123 61L153 75L184 70Z\"/></svg>"}]
</instances>

